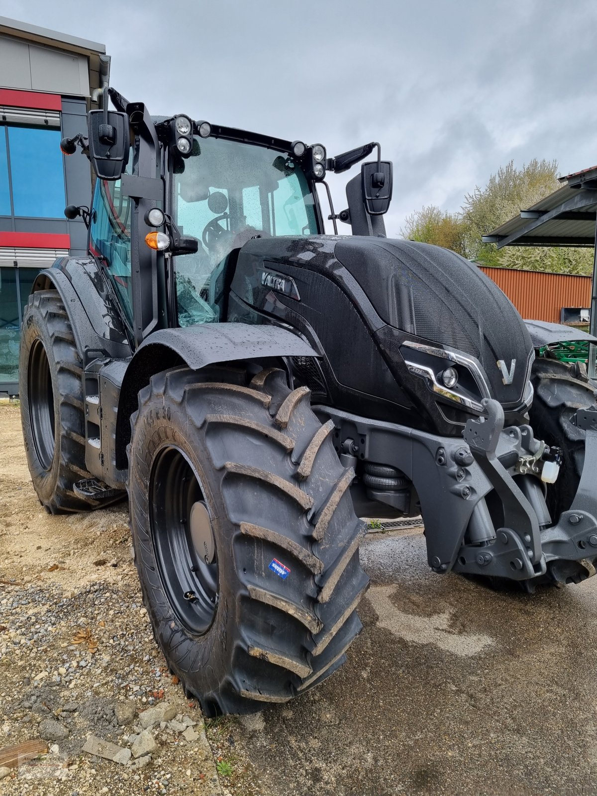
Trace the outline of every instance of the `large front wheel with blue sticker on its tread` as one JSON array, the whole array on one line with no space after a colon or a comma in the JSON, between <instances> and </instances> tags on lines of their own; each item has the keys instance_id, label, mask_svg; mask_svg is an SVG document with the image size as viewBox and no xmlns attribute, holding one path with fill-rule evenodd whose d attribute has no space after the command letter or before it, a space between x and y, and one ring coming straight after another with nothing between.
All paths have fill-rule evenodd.
<instances>
[{"instance_id":1,"label":"large front wheel with blue sticker on its tread","mask_svg":"<svg viewBox=\"0 0 597 796\"><path fill-rule=\"evenodd\" d=\"M144 603L171 672L206 716L255 712L329 677L361 630L355 608L369 585L358 558L364 524L331 423L319 423L309 392L291 392L282 371L249 378L158 373L131 419ZM209 512L215 564L204 566L193 545L197 502Z\"/></svg>"}]
</instances>

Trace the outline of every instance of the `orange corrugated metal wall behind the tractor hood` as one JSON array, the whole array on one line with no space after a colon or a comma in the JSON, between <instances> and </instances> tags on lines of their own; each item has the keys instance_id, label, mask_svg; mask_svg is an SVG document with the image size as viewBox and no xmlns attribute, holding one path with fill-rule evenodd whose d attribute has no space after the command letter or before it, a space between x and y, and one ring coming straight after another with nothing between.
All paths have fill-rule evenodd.
<instances>
[{"instance_id":1,"label":"orange corrugated metal wall behind the tractor hood","mask_svg":"<svg viewBox=\"0 0 597 796\"><path fill-rule=\"evenodd\" d=\"M560 323L563 306L591 306L591 277L479 266L523 318Z\"/></svg>"}]
</instances>

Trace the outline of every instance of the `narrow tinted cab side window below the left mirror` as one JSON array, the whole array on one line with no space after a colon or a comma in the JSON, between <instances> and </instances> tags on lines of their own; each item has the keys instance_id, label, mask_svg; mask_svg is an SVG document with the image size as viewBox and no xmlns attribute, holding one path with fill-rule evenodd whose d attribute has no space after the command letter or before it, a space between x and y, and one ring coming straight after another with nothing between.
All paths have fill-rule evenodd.
<instances>
[{"instance_id":1,"label":"narrow tinted cab side window below the left mirror","mask_svg":"<svg viewBox=\"0 0 597 796\"><path fill-rule=\"evenodd\" d=\"M105 268L132 323L131 199L123 196L120 180L96 180L89 250Z\"/></svg>"}]
</instances>

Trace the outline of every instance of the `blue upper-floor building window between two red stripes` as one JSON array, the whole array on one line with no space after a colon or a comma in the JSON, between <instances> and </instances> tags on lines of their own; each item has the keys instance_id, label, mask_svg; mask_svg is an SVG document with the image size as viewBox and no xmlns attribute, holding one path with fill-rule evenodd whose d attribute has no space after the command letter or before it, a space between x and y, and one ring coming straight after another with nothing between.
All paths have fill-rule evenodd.
<instances>
[{"instance_id":1,"label":"blue upper-floor building window between two red stripes","mask_svg":"<svg viewBox=\"0 0 597 796\"><path fill-rule=\"evenodd\" d=\"M60 131L0 125L0 215L64 218Z\"/></svg>"}]
</instances>

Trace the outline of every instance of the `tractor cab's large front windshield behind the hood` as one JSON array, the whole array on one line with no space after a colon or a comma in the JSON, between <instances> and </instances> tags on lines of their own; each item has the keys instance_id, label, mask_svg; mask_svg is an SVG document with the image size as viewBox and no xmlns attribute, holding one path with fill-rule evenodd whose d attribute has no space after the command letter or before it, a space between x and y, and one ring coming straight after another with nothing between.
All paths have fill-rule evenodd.
<instances>
[{"instance_id":1,"label":"tractor cab's large front windshield behind the hood","mask_svg":"<svg viewBox=\"0 0 597 796\"><path fill-rule=\"evenodd\" d=\"M257 235L317 234L314 198L291 155L264 146L197 137L179 168L173 216L181 232L199 240L199 250L175 259L178 323L225 320L232 250Z\"/></svg>"}]
</instances>

